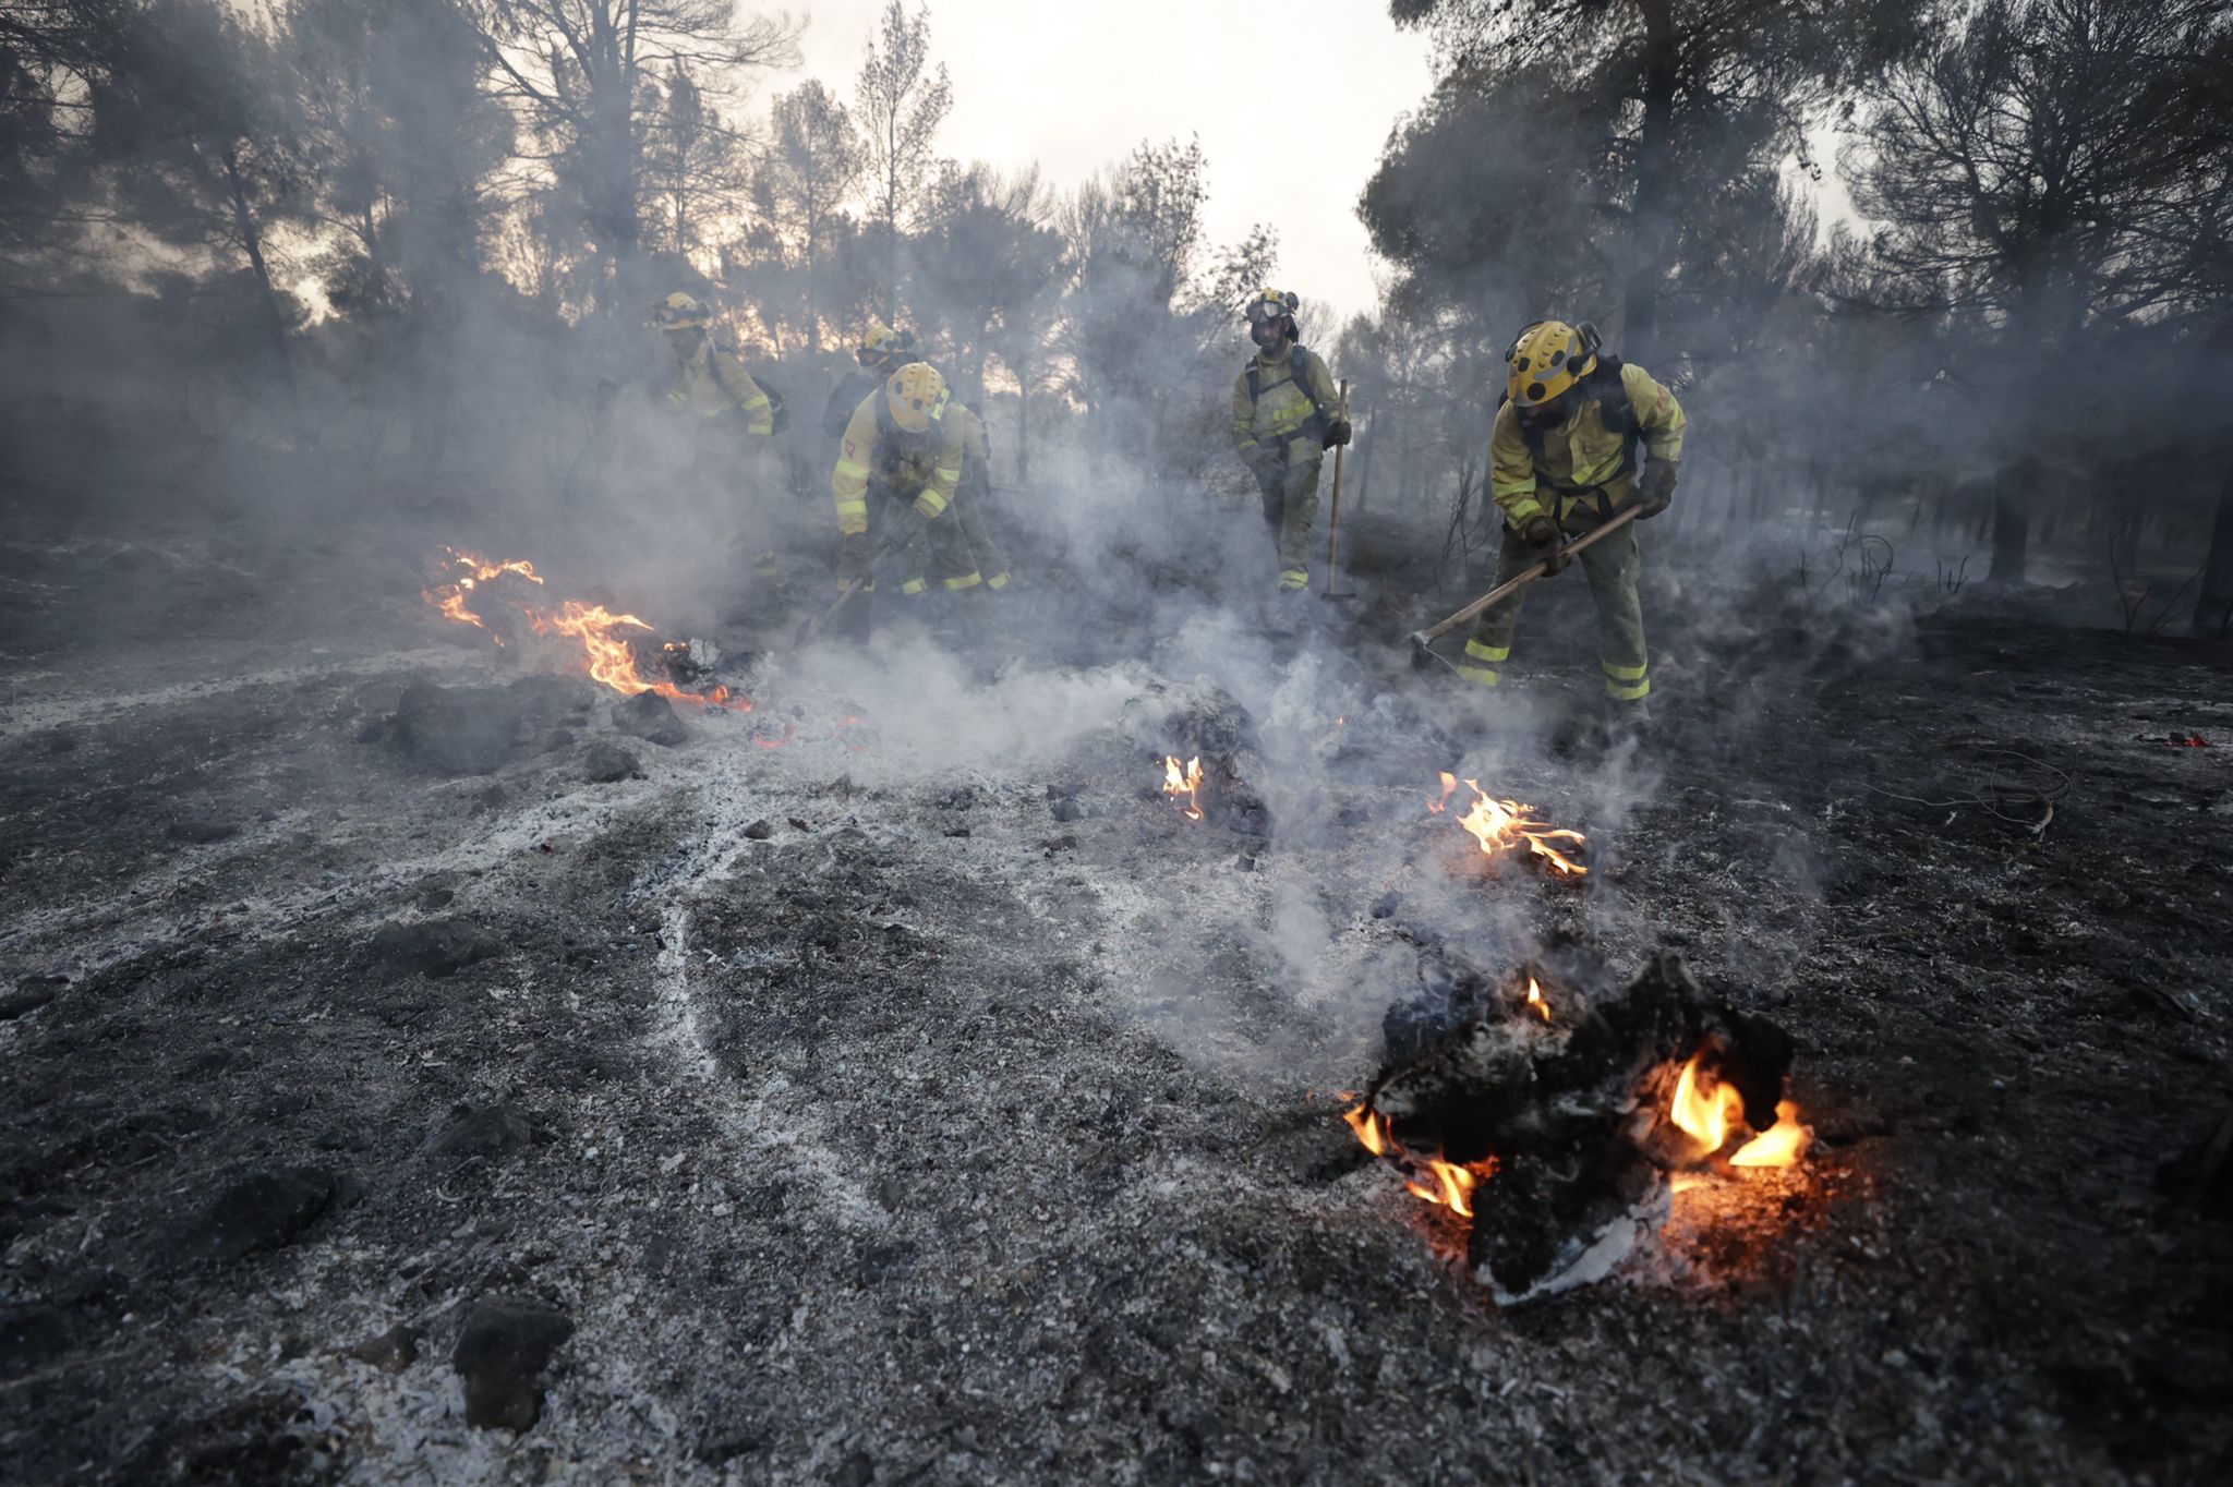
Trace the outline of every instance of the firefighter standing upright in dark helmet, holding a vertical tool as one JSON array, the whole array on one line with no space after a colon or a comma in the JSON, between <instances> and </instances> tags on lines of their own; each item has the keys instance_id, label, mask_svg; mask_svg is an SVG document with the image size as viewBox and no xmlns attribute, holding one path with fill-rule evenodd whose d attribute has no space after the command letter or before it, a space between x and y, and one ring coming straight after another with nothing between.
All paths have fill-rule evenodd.
<instances>
[{"instance_id":1,"label":"firefighter standing upright in dark helmet, holding a vertical tool","mask_svg":"<svg viewBox=\"0 0 2233 1487\"><path fill-rule=\"evenodd\" d=\"M1248 301L1257 353L1233 382L1233 449L1257 478L1264 525L1280 554L1280 594L1311 587L1311 527L1317 522L1317 467L1349 442L1349 420L1324 357L1295 342L1302 301L1262 290Z\"/></svg>"}]
</instances>

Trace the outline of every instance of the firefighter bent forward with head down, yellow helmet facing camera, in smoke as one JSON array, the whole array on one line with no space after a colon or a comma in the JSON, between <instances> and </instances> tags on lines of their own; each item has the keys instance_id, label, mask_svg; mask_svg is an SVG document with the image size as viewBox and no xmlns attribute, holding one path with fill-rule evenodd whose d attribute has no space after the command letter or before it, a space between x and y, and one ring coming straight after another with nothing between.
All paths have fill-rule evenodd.
<instances>
[{"instance_id":1,"label":"firefighter bent forward with head down, yellow helmet facing camera, in smoke","mask_svg":"<svg viewBox=\"0 0 2233 1487\"><path fill-rule=\"evenodd\" d=\"M927 567L953 596L962 623L974 623L974 605L985 601L985 576L956 509L969 462L969 433L956 406L936 368L909 362L862 397L846 420L831 498L842 536L837 576L862 585L862 596L846 605L851 630L860 636L869 634L873 563L887 543L913 543L902 594L929 587Z\"/></svg>"}]
</instances>

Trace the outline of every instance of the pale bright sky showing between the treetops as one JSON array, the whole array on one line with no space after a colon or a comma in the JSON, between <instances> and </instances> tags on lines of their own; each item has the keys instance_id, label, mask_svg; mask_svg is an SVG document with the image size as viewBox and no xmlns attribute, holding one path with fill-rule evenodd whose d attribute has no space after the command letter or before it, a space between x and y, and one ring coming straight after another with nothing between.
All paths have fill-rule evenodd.
<instances>
[{"instance_id":1,"label":"pale bright sky showing between the treetops","mask_svg":"<svg viewBox=\"0 0 2233 1487\"><path fill-rule=\"evenodd\" d=\"M811 0L799 76L846 103L884 0ZM1280 288L1313 337L1371 308L1355 201L1396 116L1434 80L1427 36L1380 0L938 0L931 56L953 80L940 154L1003 170L1038 161L1074 188L1143 138L1201 138L1210 243L1280 230ZM1277 65L1284 76L1266 83ZM797 76L770 78L788 89Z\"/></svg>"}]
</instances>

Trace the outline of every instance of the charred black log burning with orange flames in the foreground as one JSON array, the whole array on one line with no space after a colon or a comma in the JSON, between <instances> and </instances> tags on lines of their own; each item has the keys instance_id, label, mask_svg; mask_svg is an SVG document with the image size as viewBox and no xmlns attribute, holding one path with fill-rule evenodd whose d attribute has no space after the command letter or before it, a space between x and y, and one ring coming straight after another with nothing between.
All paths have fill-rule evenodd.
<instances>
[{"instance_id":1,"label":"charred black log burning with orange flames in the foreground","mask_svg":"<svg viewBox=\"0 0 2233 1487\"><path fill-rule=\"evenodd\" d=\"M1597 956L1552 958L1391 1009L1391 1063L1344 1116L1465 1221L1505 1304L1610 1275L1666 1224L1675 1174L1791 1165L1809 1139L1780 1027L1708 1000L1673 953L1619 991Z\"/></svg>"}]
</instances>

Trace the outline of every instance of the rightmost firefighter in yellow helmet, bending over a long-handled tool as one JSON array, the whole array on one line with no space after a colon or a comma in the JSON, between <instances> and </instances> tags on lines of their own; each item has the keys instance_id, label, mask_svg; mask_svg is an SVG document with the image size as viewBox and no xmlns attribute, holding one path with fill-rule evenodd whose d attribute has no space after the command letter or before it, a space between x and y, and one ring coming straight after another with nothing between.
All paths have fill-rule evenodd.
<instances>
[{"instance_id":1,"label":"rightmost firefighter in yellow helmet, bending over a long-handled tool","mask_svg":"<svg viewBox=\"0 0 2233 1487\"><path fill-rule=\"evenodd\" d=\"M1561 543L1628 505L1637 520L1666 511L1686 426L1675 393L1603 351L1597 326L1539 319L1518 333L1505 362L1505 397L1489 438L1489 498L1505 518L1496 583L1539 558L1550 558L1556 574L1572 560L1561 556ZM1650 455L1641 478L1639 451ZM1581 554L1597 601L1606 694L1635 721L1648 719L1643 699L1652 690L1637 598L1641 567L1635 522ZM1503 681L1525 596L1523 587L1480 612L1460 677L1483 688Z\"/></svg>"}]
</instances>

